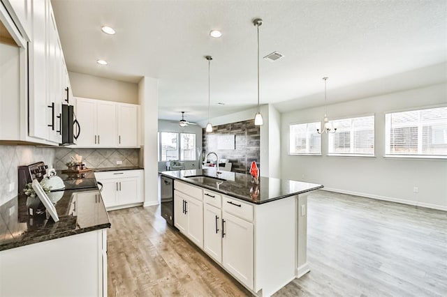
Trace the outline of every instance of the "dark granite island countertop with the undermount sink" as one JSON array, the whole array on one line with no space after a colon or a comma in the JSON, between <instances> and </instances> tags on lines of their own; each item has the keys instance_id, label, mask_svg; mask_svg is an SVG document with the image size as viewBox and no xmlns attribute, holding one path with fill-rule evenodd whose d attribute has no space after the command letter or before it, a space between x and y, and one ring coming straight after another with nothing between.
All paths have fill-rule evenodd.
<instances>
[{"instance_id":1,"label":"dark granite island countertop with the undermount sink","mask_svg":"<svg viewBox=\"0 0 447 297\"><path fill-rule=\"evenodd\" d=\"M263 204L265 202L274 201L302 194L312 190L323 188L323 185L316 183L305 183L302 181L289 181L280 178L268 178L261 176L259 183L252 183L252 177L249 174L240 174L236 172L221 172L219 178L224 181L193 181L186 176L211 176L216 177L216 169L191 169L178 170L170 172L159 172L163 176L175 178L179 181L198 185L231 197L249 201L253 204Z\"/></svg>"}]
</instances>

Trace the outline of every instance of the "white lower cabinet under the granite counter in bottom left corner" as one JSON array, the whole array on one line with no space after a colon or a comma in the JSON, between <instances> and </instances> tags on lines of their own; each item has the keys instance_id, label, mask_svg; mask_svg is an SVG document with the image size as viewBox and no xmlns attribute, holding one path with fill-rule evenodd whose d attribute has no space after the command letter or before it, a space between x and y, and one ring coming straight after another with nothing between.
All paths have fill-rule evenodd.
<instances>
[{"instance_id":1,"label":"white lower cabinet under the granite counter in bottom left corner","mask_svg":"<svg viewBox=\"0 0 447 297\"><path fill-rule=\"evenodd\" d=\"M107 230L4 250L0 264L0 296L105 297Z\"/></svg>"}]
</instances>

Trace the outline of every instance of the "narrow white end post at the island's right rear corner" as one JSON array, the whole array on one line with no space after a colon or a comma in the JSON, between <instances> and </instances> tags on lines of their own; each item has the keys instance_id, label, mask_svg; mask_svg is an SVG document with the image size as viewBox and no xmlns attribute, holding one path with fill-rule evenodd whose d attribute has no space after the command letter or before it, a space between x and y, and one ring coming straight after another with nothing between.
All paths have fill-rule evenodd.
<instances>
[{"instance_id":1,"label":"narrow white end post at the island's right rear corner","mask_svg":"<svg viewBox=\"0 0 447 297\"><path fill-rule=\"evenodd\" d=\"M310 271L307 264L307 195L298 195L296 201L297 233L296 233L296 271L297 278Z\"/></svg>"}]
</instances>

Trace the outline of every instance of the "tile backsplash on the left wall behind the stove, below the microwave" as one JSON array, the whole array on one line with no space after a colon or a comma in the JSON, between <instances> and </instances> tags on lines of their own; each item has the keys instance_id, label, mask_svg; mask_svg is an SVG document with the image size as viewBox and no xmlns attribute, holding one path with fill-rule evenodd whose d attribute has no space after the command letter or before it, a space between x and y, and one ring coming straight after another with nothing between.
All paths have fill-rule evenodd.
<instances>
[{"instance_id":1,"label":"tile backsplash on the left wall behind the stove, below the microwave","mask_svg":"<svg viewBox=\"0 0 447 297\"><path fill-rule=\"evenodd\" d=\"M17 167L43 161L54 166L56 148L0 145L0 205L17 196Z\"/></svg>"}]
</instances>

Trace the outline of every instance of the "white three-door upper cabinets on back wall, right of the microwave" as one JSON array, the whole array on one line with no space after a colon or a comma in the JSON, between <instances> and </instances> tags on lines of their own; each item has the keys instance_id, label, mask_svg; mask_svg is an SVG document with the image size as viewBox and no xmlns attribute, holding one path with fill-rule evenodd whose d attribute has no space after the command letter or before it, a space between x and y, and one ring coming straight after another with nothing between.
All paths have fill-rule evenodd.
<instances>
[{"instance_id":1,"label":"white three-door upper cabinets on back wall, right of the microwave","mask_svg":"<svg viewBox=\"0 0 447 297\"><path fill-rule=\"evenodd\" d=\"M138 147L138 105L75 98L80 147Z\"/></svg>"}]
</instances>

